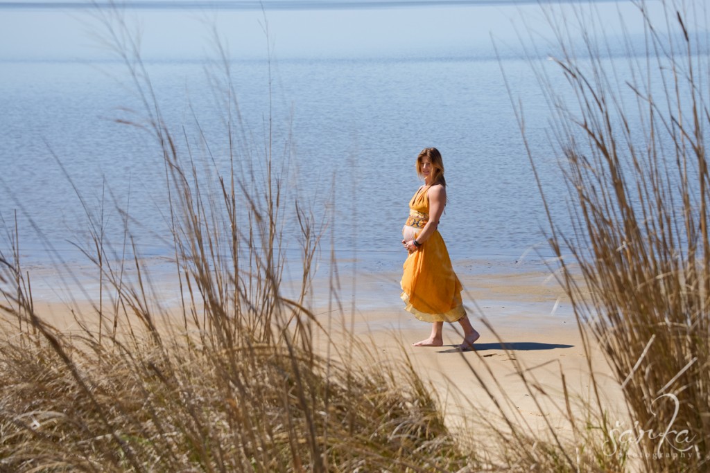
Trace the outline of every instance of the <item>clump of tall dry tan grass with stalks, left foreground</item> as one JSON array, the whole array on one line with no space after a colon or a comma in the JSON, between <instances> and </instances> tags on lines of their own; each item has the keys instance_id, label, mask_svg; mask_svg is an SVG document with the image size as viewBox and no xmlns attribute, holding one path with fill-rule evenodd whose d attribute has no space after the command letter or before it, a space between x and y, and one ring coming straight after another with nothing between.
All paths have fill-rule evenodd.
<instances>
[{"instance_id":1,"label":"clump of tall dry tan grass with stalks, left foreground","mask_svg":"<svg viewBox=\"0 0 710 473\"><path fill-rule=\"evenodd\" d=\"M366 355L353 338L329 341L334 356L320 355L314 335L329 333L306 294L322 216L287 194L270 113L263 154L247 151L224 52L213 78L223 86L226 135L207 143L197 120L197 139L170 128L123 16L101 18L142 104L119 120L158 143L180 302L161 304L129 224L115 250L99 231L100 215L86 208L97 230L84 249L99 272L97 299L75 311L78 329L60 328L33 305L18 233L10 235L0 255L0 471L475 467L476 455L444 425L412 365ZM218 152L228 157L226 172L204 165L218 162ZM300 286L288 293L287 225L300 231L302 267ZM369 362L347 355L360 349Z\"/></svg>"}]
</instances>

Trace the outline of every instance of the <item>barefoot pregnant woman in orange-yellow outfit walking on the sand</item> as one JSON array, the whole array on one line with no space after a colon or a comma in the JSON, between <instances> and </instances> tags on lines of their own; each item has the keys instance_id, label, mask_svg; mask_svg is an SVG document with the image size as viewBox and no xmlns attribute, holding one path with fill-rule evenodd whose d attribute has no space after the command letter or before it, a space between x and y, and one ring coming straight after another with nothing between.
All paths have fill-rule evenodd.
<instances>
[{"instance_id":1,"label":"barefoot pregnant woman in orange-yellow outfit walking on the sand","mask_svg":"<svg viewBox=\"0 0 710 473\"><path fill-rule=\"evenodd\" d=\"M442 155L436 148L426 148L417 156L416 166L424 185L409 202L409 218L402 229L402 245L409 252L402 276L402 300L405 309L420 321L432 323L432 333L413 345L440 347L444 345L444 322L459 322L464 329L459 348L471 350L480 335L466 316L461 282L437 230L447 201Z\"/></svg>"}]
</instances>

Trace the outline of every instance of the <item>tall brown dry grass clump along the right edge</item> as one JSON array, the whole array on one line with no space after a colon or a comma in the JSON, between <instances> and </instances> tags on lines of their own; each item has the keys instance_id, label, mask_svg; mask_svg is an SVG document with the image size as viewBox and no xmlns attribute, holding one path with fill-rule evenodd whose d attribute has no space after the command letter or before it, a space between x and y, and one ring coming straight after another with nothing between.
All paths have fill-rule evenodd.
<instances>
[{"instance_id":1,"label":"tall brown dry grass clump along the right edge","mask_svg":"<svg viewBox=\"0 0 710 473\"><path fill-rule=\"evenodd\" d=\"M531 64L570 210L569 221L548 214L550 243L587 345L601 346L623 387L630 420L602 417L608 455L640 471L699 472L710 463L708 11L662 1L655 24L649 2L636 6L640 46L626 32L609 38L594 7L542 9L558 53L552 67ZM520 108L518 118L525 134Z\"/></svg>"}]
</instances>

